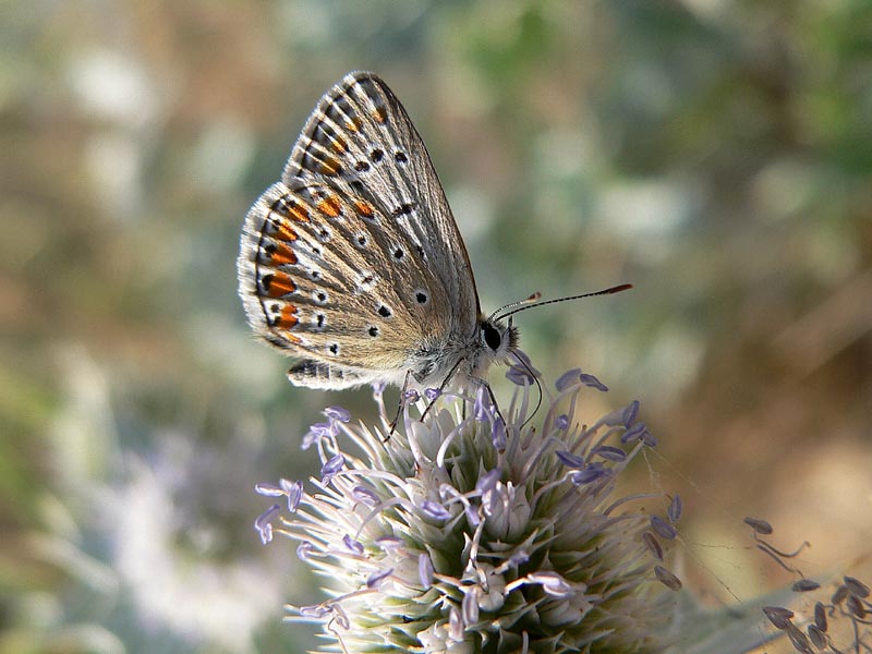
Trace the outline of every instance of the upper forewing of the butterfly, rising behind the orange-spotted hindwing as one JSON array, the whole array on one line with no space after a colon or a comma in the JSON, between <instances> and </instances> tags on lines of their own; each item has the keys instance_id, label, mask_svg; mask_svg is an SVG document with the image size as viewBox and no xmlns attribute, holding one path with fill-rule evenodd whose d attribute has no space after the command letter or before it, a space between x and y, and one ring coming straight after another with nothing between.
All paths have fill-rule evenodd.
<instances>
[{"instance_id":1,"label":"upper forewing of the butterfly, rising behind the orange-spotted hindwing","mask_svg":"<svg viewBox=\"0 0 872 654\"><path fill-rule=\"evenodd\" d=\"M310 171L376 206L384 230L422 253L449 299L452 327L474 330L479 298L463 239L424 142L378 76L349 73L322 98L282 179L292 186Z\"/></svg>"}]
</instances>

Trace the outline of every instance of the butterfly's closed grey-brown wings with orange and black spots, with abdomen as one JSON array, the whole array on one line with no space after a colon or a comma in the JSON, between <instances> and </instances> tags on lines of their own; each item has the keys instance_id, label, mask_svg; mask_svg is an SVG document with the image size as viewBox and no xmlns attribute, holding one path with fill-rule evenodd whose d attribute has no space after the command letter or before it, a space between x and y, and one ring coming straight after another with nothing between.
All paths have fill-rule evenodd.
<instances>
[{"instance_id":1,"label":"butterfly's closed grey-brown wings with orange and black spots, with abdomen","mask_svg":"<svg viewBox=\"0 0 872 654\"><path fill-rule=\"evenodd\" d=\"M422 379L475 330L469 256L429 155L372 73L322 98L249 211L238 269L255 332L303 358L299 385Z\"/></svg>"}]
</instances>

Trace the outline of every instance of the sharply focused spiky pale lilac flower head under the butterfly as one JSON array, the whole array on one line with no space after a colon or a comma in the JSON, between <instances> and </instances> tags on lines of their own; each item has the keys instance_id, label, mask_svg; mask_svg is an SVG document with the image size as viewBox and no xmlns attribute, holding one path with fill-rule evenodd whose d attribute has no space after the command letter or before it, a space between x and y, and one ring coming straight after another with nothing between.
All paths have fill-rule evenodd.
<instances>
[{"instance_id":1,"label":"sharply focused spiky pale lilac flower head under the butterfly","mask_svg":"<svg viewBox=\"0 0 872 654\"><path fill-rule=\"evenodd\" d=\"M519 386L501 410L487 387L407 393L392 432L376 388L379 426L334 407L306 435L323 463L310 489L258 485L287 504L257 519L264 542L294 538L331 580L329 600L295 609L324 625L327 651L661 651L667 586L680 585L661 542L676 535L680 500L615 497L620 472L655 445L639 403L585 426L580 399L606 388L570 371L536 427L533 373L509 371ZM664 517L643 511L652 497Z\"/></svg>"}]
</instances>

